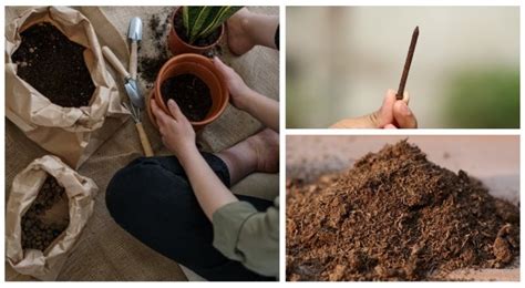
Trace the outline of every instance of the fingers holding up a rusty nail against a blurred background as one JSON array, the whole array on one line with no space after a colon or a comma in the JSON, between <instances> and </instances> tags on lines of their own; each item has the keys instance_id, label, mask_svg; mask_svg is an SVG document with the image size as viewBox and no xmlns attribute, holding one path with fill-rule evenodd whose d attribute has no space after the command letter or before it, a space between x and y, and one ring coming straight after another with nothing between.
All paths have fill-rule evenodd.
<instances>
[{"instance_id":1,"label":"fingers holding up a rusty nail against a blurred background","mask_svg":"<svg viewBox=\"0 0 525 288\"><path fill-rule=\"evenodd\" d=\"M395 99L395 91L389 90L381 107L356 119L344 119L331 125L332 128L416 128L418 121L409 109L410 96L404 92L402 100Z\"/></svg>"}]
</instances>

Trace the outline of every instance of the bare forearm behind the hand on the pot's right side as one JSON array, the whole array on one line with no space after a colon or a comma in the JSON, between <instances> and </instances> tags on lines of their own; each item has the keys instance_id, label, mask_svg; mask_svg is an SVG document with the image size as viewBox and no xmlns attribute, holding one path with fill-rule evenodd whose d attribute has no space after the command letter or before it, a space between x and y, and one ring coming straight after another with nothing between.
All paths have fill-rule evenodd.
<instances>
[{"instance_id":1,"label":"bare forearm behind the hand on the pot's right side","mask_svg":"<svg viewBox=\"0 0 525 288\"><path fill-rule=\"evenodd\" d=\"M279 132L279 102L251 90L246 96L244 110L265 126Z\"/></svg>"}]
</instances>

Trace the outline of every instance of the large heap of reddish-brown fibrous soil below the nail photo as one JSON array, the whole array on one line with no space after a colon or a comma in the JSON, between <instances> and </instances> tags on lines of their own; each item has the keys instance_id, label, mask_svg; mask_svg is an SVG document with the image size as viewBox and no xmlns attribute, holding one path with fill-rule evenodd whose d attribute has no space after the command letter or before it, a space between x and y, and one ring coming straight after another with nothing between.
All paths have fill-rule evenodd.
<instances>
[{"instance_id":1,"label":"large heap of reddish-brown fibrous soil below the nail photo","mask_svg":"<svg viewBox=\"0 0 525 288\"><path fill-rule=\"evenodd\" d=\"M430 280L519 255L519 208L406 141L342 174L287 182L288 280Z\"/></svg>"}]
</instances>

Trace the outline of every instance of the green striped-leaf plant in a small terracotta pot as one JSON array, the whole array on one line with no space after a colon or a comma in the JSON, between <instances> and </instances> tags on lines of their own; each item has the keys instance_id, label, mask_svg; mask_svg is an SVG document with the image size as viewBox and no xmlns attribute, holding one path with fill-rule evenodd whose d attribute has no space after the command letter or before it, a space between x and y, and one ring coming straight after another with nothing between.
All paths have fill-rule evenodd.
<instances>
[{"instance_id":1,"label":"green striped-leaf plant in a small terracotta pot","mask_svg":"<svg viewBox=\"0 0 525 288\"><path fill-rule=\"evenodd\" d=\"M243 7L185 6L175 9L167 35L174 55L202 54L217 45L225 33L224 22Z\"/></svg>"}]
</instances>

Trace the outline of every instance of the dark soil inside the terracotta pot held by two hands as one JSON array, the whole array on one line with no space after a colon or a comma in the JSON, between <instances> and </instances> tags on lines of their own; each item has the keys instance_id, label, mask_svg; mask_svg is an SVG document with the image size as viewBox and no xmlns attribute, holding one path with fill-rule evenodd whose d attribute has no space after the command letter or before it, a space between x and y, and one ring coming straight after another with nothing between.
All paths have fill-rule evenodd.
<instances>
[{"instance_id":1,"label":"dark soil inside the terracotta pot held by two hands","mask_svg":"<svg viewBox=\"0 0 525 288\"><path fill-rule=\"evenodd\" d=\"M209 88L193 74L182 74L166 79L161 85L164 102L175 100L189 121L202 121L212 107Z\"/></svg>"}]
</instances>

